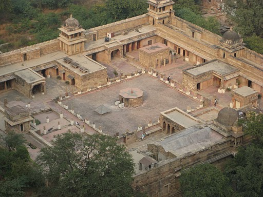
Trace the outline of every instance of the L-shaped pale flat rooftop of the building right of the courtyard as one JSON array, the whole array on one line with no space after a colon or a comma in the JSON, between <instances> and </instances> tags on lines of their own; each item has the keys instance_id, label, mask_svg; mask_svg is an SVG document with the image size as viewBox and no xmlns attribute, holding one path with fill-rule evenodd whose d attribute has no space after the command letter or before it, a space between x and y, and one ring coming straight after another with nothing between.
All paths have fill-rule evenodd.
<instances>
[{"instance_id":1,"label":"L-shaped pale flat rooftop of the building right of the courtyard","mask_svg":"<svg viewBox=\"0 0 263 197\"><path fill-rule=\"evenodd\" d=\"M201 64L199 66L196 66L194 68L189 68L185 70L185 72L188 72L194 76L197 76L199 74L203 74L209 71L213 71L219 75L226 76L226 75L232 74L233 72L237 72L238 69L229 64L223 63L221 61L211 61L208 63Z\"/></svg>"}]
</instances>

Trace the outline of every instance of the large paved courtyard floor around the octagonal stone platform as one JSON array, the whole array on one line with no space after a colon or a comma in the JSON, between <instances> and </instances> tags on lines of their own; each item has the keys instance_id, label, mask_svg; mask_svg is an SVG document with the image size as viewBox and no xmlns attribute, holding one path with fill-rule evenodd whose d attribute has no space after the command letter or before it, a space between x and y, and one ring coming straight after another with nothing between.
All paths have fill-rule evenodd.
<instances>
[{"instance_id":1,"label":"large paved courtyard floor around the octagonal stone platform","mask_svg":"<svg viewBox=\"0 0 263 197\"><path fill-rule=\"evenodd\" d=\"M115 106L115 101L119 100L119 92L124 88L139 88L143 93L143 105L140 107ZM108 88L89 92L69 99L64 104L73 107L76 113L84 119L95 122L96 127L102 126L103 132L114 135L124 133L126 129L134 131L138 126L146 126L151 120L157 122L160 112L173 107L186 110L187 106L196 108L199 103L181 92L159 82L147 74L123 81ZM110 113L100 115L94 110L100 105L105 105L111 110Z\"/></svg>"}]
</instances>

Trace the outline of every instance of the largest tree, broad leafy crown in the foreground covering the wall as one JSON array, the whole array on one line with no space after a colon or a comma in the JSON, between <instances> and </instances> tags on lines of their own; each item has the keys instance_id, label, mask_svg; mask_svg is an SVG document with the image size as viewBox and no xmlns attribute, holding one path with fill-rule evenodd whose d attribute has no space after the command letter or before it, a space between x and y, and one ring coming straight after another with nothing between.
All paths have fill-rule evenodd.
<instances>
[{"instance_id":1,"label":"largest tree, broad leafy crown in the foreground covering the wall","mask_svg":"<svg viewBox=\"0 0 263 197\"><path fill-rule=\"evenodd\" d=\"M44 196L132 196L132 156L106 135L57 135L37 163L46 171Z\"/></svg>"}]
</instances>

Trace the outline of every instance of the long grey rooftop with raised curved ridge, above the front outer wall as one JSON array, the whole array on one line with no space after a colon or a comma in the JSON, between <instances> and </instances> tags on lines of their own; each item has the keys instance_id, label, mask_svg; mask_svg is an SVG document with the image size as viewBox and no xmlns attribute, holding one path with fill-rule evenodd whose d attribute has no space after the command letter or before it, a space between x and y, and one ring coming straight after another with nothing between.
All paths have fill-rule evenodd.
<instances>
[{"instance_id":1,"label":"long grey rooftop with raised curved ridge, above the front outer wall","mask_svg":"<svg viewBox=\"0 0 263 197\"><path fill-rule=\"evenodd\" d=\"M221 140L223 140L223 135L210 127L194 126L154 144L162 146L166 152L171 152L180 157L186 153L194 153L206 147L211 147Z\"/></svg>"}]
</instances>

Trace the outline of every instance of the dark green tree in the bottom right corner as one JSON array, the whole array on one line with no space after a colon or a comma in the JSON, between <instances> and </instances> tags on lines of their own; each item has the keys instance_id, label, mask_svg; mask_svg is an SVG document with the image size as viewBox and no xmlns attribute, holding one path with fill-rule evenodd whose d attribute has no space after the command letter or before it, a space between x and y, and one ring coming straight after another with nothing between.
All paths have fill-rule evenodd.
<instances>
[{"instance_id":1,"label":"dark green tree in the bottom right corner","mask_svg":"<svg viewBox=\"0 0 263 197\"><path fill-rule=\"evenodd\" d=\"M251 144L241 147L228 164L226 173L238 196L263 196L263 149Z\"/></svg>"}]
</instances>

